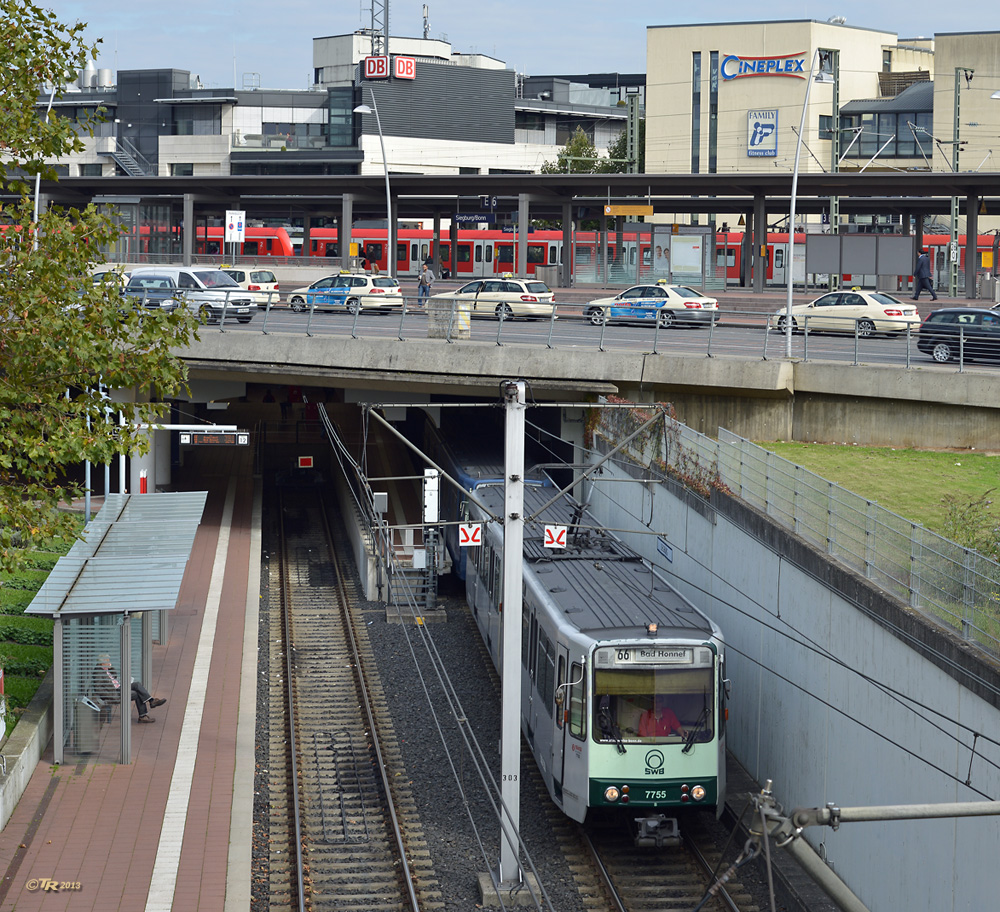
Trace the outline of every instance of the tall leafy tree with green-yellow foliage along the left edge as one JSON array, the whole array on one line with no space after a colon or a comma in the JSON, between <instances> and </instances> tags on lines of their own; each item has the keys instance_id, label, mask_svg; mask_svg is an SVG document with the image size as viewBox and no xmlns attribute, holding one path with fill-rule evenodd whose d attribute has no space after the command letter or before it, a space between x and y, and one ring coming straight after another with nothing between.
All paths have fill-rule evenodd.
<instances>
[{"instance_id":1,"label":"tall leafy tree with green-yellow foliage along the left edge","mask_svg":"<svg viewBox=\"0 0 1000 912\"><path fill-rule=\"evenodd\" d=\"M83 494L84 461L148 447L137 425L162 406L141 400L183 387L185 365L171 350L197 330L185 308L136 310L113 281L94 284L91 267L118 229L93 206L35 215L36 175L55 179L47 162L81 151L81 132L92 130L39 106L40 94L58 97L96 56L85 27L0 0L0 571L23 564L33 544L70 534L61 508ZM126 422L120 436L102 388L140 400L114 403Z\"/></svg>"}]
</instances>

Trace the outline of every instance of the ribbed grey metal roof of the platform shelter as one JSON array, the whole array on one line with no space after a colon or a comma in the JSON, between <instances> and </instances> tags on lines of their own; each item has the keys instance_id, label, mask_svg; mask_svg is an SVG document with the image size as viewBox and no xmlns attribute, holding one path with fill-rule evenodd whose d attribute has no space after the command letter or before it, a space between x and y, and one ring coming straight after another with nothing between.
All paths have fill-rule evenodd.
<instances>
[{"instance_id":1,"label":"ribbed grey metal roof of the platform shelter","mask_svg":"<svg viewBox=\"0 0 1000 912\"><path fill-rule=\"evenodd\" d=\"M173 608L207 497L109 495L25 613L66 618Z\"/></svg>"}]
</instances>

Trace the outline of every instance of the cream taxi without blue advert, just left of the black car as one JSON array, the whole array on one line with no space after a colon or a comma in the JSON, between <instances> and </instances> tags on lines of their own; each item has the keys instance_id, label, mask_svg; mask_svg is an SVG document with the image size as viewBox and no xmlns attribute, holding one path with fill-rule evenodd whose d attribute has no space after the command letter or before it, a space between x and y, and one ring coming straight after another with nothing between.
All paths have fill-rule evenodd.
<instances>
[{"instance_id":1,"label":"cream taxi without blue advert, just left of the black car","mask_svg":"<svg viewBox=\"0 0 1000 912\"><path fill-rule=\"evenodd\" d=\"M785 328L786 308L771 315L771 329ZM914 304L907 304L882 291L831 291L808 304L792 306L792 331L846 332L859 336L872 333L897 335L908 326L916 327L920 316Z\"/></svg>"}]
</instances>

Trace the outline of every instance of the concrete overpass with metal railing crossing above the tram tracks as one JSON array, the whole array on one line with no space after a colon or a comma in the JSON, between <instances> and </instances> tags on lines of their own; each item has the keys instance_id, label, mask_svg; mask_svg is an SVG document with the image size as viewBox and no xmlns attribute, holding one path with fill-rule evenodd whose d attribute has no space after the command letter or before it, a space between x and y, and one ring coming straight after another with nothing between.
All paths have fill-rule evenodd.
<instances>
[{"instance_id":1,"label":"concrete overpass with metal railing crossing above the tram tracks","mask_svg":"<svg viewBox=\"0 0 1000 912\"><path fill-rule=\"evenodd\" d=\"M553 321L558 333L540 321L504 324L507 334L496 321L473 320L470 338L448 341L429 337L431 321L423 314L364 315L368 323L338 315L323 332L314 325L312 334L303 315L296 316L298 322L291 315L269 324L255 320L249 329L203 329L179 352L194 381L193 398L241 395L250 383L336 390L336 398L354 402L492 398L501 381L518 377L536 399L582 404L616 394L669 401L680 421L709 436L723 427L751 440L1000 450L1000 374L926 360L879 361L874 340L853 352L855 363L850 352L842 361L822 353L786 358L784 337L762 326L756 335L747 329L753 341L744 349L724 346L716 329L713 351L706 330L654 338L641 327L612 339L610 330L605 335L572 319ZM738 321L725 320L732 322ZM801 337L795 338L799 350ZM898 352L904 343L883 344ZM565 420L579 415L567 412Z\"/></svg>"}]
</instances>

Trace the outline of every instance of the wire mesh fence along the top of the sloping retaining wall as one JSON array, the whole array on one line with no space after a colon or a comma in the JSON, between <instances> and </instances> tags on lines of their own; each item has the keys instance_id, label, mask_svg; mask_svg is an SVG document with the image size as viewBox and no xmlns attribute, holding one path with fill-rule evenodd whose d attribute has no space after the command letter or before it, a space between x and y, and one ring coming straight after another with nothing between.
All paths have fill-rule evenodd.
<instances>
[{"instance_id":1,"label":"wire mesh fence along the top of the sloping retaining wall","mask_svg":"<svg viewBox=\"0 0 1000 912\"><path fill-rule=\"evenodd\" d=\"M653 409L603 410L600 431L623 440ZM630 454L708 493L724 485L911 608L1000 657L1000 564L814 472L719 429L713 440L664 413Z\"/></svg>"}]
</instances>

